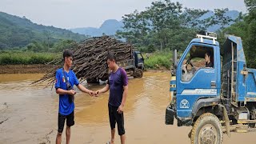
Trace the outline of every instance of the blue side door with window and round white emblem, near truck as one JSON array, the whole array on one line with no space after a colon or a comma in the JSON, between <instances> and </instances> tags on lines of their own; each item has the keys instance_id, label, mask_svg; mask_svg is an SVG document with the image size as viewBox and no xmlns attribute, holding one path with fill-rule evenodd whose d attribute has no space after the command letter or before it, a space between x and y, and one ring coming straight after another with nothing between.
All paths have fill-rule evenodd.
<instances>
[{"instance_id":1,"label":"blue side door with window and round white emblem, near truck","mask_svg":"<svg viewBox=\"0 0 256 144\"><path fill-rule=\"evenodd\" d=\"M219 94L218 46L191 43L177 68L177 115L190 118L194 103L200 98L216 97ZM210 62L206 63L206 54Z\"/></svg>"}]
</instances>

